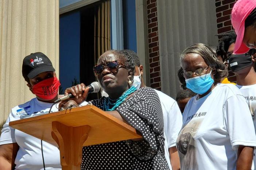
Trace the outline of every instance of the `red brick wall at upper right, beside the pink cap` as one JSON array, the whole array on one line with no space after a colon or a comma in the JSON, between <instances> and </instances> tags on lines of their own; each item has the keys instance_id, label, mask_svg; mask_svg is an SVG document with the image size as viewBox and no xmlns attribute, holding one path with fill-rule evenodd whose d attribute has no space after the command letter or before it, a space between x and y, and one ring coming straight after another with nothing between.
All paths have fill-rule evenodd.
<instances>
[{"instance_id":1,"label":"red brick wall at upper right, beside the pink cap","mask_svg":"<svg viewBox=\"0 0 256 170\"><path fill-rule=\"evenodd\" d=\"M218 34L233 30L231 11L237 0L215 0ZM219 37L221 38L221 37ZM228 80L235 82L236 76L229 71Z\"/></svg>"}]
</instances>

